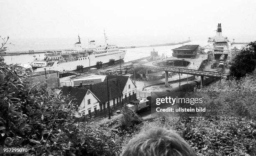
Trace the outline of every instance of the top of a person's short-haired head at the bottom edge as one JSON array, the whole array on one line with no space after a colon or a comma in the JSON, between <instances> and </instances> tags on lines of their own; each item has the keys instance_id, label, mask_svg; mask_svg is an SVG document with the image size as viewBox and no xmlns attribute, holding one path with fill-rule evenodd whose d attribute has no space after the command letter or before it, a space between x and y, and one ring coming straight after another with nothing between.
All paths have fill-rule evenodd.
<instances>
[{"instance_id":1,"label":"top of a person's short-haired head at the bottom edge","mask_svg":"<svg viewBox=\"0 0 256 156\"><path fill-rule=\"evenodd\" d=\"M197 156L197 154L177 133L157 127L131 139L121 156Z\"/></svg>"}]
</instances>

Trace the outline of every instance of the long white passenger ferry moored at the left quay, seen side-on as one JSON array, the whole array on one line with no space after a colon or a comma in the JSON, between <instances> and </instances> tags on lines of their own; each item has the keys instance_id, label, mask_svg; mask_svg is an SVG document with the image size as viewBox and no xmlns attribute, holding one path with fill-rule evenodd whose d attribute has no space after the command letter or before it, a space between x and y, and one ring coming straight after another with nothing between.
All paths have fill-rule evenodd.
<instances>
[{"instance_id":1,"label":"long white passenger ferry moored at the left quay, seen side-on","mask_svg":"<svg viewBox=\"0 0 256 156\"><path fill-rule=\"evenodd\" d=\"M90 41L88 48L82 48L80 37L74 44L73 50L47 51L43 60L34 59L31 63L34 72L55 70L59 72L72 71L81 68L102 67L124 59L126 51L119 50L116 45L107 43L105 31L105 45L96 46L95 41Z\"/></svg>"}]
</instances>

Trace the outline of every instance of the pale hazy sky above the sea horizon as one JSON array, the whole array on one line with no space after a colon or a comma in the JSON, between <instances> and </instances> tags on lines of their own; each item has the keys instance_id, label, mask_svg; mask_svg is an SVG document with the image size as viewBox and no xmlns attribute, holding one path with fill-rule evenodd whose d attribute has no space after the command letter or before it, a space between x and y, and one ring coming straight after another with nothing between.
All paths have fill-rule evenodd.
<instances>
[{"instance_id":1,"label":"pale hazy sky above the sea horizon","mask_svg":"<svg viewBox=\"0 0 256 156\"><path fill-rule=\"evenodd\" d=\"M0 35L80 36L256 35L256 0L0 0Z\"/></svg>"}]
</instances>

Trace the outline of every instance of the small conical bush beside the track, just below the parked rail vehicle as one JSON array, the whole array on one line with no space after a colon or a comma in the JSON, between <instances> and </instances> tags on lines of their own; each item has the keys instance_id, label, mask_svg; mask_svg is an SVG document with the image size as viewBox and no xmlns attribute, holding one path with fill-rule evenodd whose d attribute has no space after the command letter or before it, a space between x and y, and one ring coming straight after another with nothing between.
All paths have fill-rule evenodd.
<instances>
[{"instance_id":1,"label":"small conical bush beside the track, just below the parked rail vehicle","mask_svg":"<svg viewBox=\"0 0 256 156\"><path fill-rule=\"evenodd\" d=\"M128 130L133 128L142 122L142 119L130 110L126 105L122 108L123 117L120 119L120 125L123 130Z\"/></svg>"}]
</instances>

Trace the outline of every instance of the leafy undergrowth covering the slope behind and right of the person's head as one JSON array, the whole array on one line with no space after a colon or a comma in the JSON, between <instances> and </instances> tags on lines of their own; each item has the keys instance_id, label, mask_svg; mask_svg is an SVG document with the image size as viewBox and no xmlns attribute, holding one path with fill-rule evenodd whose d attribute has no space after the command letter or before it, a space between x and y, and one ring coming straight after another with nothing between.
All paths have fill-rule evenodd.
<instances>
[{"instance_id":1,"label":"leafy undergrowth covering the slope behind and right of the person's head","mask_svg":"<svg viewBox=\"0 0 256 156\"><path fill-rule=\"evenodd\" d=\"M202 107L210 105L215 112L210 117L159 117L141 124L136 133L164 127L177 131L198 155L256 156L255 74L216 82L192 94L204 97Z\"/></svg>"}]
</instances>

